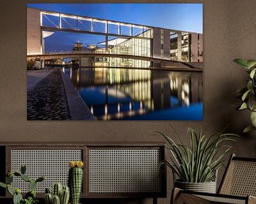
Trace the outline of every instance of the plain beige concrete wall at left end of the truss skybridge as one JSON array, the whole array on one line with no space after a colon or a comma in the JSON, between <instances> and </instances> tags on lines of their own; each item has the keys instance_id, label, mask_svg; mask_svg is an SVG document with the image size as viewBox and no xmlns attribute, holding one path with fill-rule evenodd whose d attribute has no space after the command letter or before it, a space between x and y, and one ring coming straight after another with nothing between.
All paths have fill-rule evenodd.
<instances>
[{"instance_id":1,"label":"plain beige concrete wall at left end of the truss skybridge","mask_svg":"<svg viewBox=\"0 0 256 204\"><path fill-rule=\"evenodd\" d=\"M25 9L25 8L24 8ZM28 8L27 10L27 52L42 52L40 11Z\"/></svg>"}]
</instances>

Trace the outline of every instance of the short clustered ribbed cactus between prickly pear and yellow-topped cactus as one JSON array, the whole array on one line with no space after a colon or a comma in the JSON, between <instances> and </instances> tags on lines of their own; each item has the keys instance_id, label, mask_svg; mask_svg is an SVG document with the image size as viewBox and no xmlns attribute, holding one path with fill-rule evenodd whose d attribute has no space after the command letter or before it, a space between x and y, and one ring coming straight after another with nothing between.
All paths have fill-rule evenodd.
<instances>
[{"instance_id":1,"label":"short clustered ribbed cactus between prickly pear and yellow-topped cactus","mask_svg":"<svg viewBox=\"0 0 256 204\"><path fill-rule=\"evenodd\" d=\"M61 183L54 183L53 192L46 188L45 203L46 204L68 204L70 198L70 189Z\"/></svg>"}]
</instances>

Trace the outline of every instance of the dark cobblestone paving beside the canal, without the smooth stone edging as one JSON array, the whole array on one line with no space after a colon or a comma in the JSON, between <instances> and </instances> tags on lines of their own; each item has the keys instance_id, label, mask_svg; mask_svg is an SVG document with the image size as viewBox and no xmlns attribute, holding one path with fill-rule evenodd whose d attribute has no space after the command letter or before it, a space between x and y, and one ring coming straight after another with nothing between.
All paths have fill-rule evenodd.
<instances>
[{"instance_id":1,"label":"dark cobblestone paving beside the canal, without the smooth stone edging","mask_svg":"<svg viewBox=\"0 0 256 204\"><path fill-rule=\"evenodd\" d=\"M70 120L60 69L55 69L27 94L28 120Z\"/></svg>"}]
</instances>

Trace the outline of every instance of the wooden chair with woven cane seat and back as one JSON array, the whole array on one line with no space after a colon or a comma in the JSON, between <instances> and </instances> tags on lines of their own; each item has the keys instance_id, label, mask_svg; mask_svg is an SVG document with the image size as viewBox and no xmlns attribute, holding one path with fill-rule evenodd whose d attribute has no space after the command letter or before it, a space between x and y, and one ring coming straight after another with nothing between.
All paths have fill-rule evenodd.
<instances>
[{"instance_id":1,"label":"wooden chair with woven cane seat and back","mask_svg":"<svg viewBox=\"0 0 256 204\"><path fill-rule=\"evenodd\" d=\"M256 203L256 158L235 157L232 154L220 183L218 193L198 193L174 188L172 204Z\"/></svg>"}]
</instances>

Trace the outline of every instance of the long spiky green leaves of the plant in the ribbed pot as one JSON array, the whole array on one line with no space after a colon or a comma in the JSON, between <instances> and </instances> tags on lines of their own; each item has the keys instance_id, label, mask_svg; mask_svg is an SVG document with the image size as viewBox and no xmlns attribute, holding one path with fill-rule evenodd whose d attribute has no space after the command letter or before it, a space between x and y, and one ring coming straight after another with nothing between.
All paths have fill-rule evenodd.
<instances>
[{"instance_id":1,"label":"long spiky green leaves of the plant in the ribbed pot","mask_svg":"<svg viewBox=\"0 0 256 204\"><path fill-rule=\"evenodd\" d=\"M172 129L174 130L174 128ZM174 130L174 135L178 139L178 143L174 142L171 137L157 132L167 140L166 148L171 152L171 161L162 161L160 166L166 164L182 182L204 183L214 181L216 171L220 169L225 161L223 157L232 149L230 145L225 143L236 141L235 138L238 135L220 132L206 137L201 130L197 134L192 128L188 128L187 132L190 137L190 146L182 142L176 130Z\"/></svg>"}]
</instances>

